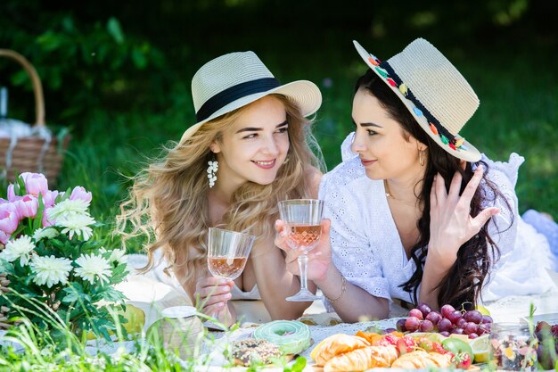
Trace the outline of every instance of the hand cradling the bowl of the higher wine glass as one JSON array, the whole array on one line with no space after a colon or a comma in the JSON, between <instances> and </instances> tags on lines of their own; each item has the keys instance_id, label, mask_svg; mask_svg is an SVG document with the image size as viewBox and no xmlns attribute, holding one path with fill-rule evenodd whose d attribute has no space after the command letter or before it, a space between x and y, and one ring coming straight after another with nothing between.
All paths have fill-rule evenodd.
<instances>
[{"instance_id":1,"label":"hand cradling the bowl of the higher wine glass","mask_svg":"<svg viewBox=\"0 0 558 372\"><path fill-rule=\"evenodd\" d=\"M330 243L330 219L322 221L322 236L316 248L308 252L308 280L319 280L325 277L327 269L332 265L332 245ZM302 250L291 249L286 243L286 237L289 236L288 228L281 219L275 221L275 245L281 248L285 253L285 263L287 270L294 275L300 276L299 258Z\"/></svg>"}]
</instances>

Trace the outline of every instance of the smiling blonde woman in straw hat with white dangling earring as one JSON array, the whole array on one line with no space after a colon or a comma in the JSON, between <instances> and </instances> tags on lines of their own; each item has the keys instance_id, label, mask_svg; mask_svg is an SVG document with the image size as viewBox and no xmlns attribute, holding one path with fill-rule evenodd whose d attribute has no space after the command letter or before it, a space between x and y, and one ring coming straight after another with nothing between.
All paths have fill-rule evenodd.
<instances>
[{"instance_id":1,"label":"smiling blonde woman in straw hat with white dangling earring","mask_svg":"<svg viewBox=\"0 0 558 372\"><path fill-rule=\"evenodd\" d=\"M154 236L145 270L160 254L193 302L227 325L242 315L235 299L263 300L268 315L256 320L298 318L309 303L285 301L300 281L275 248L274 223L277 202L317 197L323 161L310 149L316 142L305 116L319 108L320 91L305 80L281 85L256 54L243 52L202 66L192 93L198 122L136 176L118 230ZM209 274L208 227L257 236L234 282Z\"/></svg>"}]
</instances>

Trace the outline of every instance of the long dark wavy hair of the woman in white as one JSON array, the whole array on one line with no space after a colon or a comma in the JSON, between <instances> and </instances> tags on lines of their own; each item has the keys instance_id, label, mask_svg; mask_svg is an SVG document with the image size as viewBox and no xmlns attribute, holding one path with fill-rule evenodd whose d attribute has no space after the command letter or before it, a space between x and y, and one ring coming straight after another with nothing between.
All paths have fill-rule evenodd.
<instances>
[{"instance_id":1,"label":"long dark wavy hair of the woman in white","mask_svg":"<svg viewBox=\"0 0 558 372\"><path fill-rule=\"evenodd\" d=\"M439 173L446 181L447 191L449 185L455 175L459 172L463 176L461 191L471 180L473 171L472 163L467 162L465 169L461 167L460 160L444 151L430 136L421 128L413 115L406 109L398 96L393 93L380 78L372 71L368 70L365 75L357 80L355 93L358 89L364 88L366 92L375 96L382 104L382 107L389 112L393 120L397 120L405 132L406 139L413 136L418 141L428 146L426 152L426 171L424 174L422 187L415 187L418 194L417 198L423 205L423 215L417 221L416 226L419 230L419 238L411 249L411 259L414 260L416 269L411 278L406 283L400 285L408 293L413 293L414 303L418 303L418 289L423 280L423 267L428 253L428 244L430 241L430 224L431 224L431 187L434 176ZM475 163L477 166L482 164L485 169L480 187L477 188L471 201L471 216L477 216L480 211L488 205L488 202L494 202L496 198L501 198L508 209L510 205L504 195L499 192L497 186L487 178L488 164L484 161ZM456 309L461 308L465 304L465 309L476 306L480 299L482 285L485 278L490 272L495 260L499 259L500 252L494 243L494 240L488 235L488 222L480 228L479 233L473 236L469 241L465 242L457 252L457 260L448 271L438 285L438 303L449 303ZM512 221L513 223L513 221ZM509 228L509 227L508 227Z\"/></svg>"}]
</instances>

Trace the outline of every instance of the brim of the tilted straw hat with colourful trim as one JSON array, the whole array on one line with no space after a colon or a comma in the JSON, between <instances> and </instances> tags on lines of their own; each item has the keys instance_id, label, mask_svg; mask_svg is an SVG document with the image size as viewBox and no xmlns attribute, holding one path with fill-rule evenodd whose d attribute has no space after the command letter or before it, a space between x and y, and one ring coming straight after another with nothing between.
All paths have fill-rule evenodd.
<instances>
[{"instance_id":1,"label":"brim of the tilted straw hat with colourful trim","mask_svg":"<svg viewBox=\"0 0 558 372\"><path fill-rule=\"evenodd\" d=\"M431 131L431 126L428 120L424 116L416 115L416 113L414 112L415 109L414 103L408 100L406 96L399 91L398 87L392 87L388 83L388 81L386 81L386 79L375 69L376 66L374 66L373 63L370 62L369 58L373 57L373 59L376 59L376 57L373 54L369 54L368 52L366 52L365 48L363 48L360 44L358 44L357 41L353 40L353 44L355 45L355 48L357 48L357 52L358 54L360 54L360 57L363 59L363 61L368 65L368 67L370 67L371 70L373 70L373 72L376 75L378 75L378 77L383 81L383 83L388 87L390 87L393 93L395 93L398 96L399 100L401 100L401 102L405 104L406 109L411 113L411 115L413 115L416 122L421 126L421 128L423 128L426 134L428 134L434 140L434 142L436 142L447 153L449 153L452 156L455 156L456 158L459 158L464 161L472 161L472 162L480 161L479 150L477 150L475 146L471 145L471 143L467 142L466 140L464 140L463 146L457 147L455 150L449 147L448 145L444 144L441 138L437 134L434 134ZM412 87L409 88L412 89Z\"/></svg>"}]
</instances>

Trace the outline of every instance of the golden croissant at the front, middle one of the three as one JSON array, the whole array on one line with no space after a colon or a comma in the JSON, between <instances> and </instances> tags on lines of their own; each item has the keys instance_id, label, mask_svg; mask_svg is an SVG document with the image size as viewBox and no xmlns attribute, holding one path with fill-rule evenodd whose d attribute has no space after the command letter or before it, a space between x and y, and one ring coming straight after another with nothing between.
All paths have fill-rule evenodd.
<instances>
[{"instance_id":1,"label":"golden croissant at the front, middle one of the three","mask_svg":"<svg viewBox=\"0 0 558 372\"><path fill-rule=\"evenodd\" d=\"M398 351L393 345L367 346L338 355L328 360L324 372L364 371L369 368L390 367L398 359Z\"/></svg>"}]
</instances>

